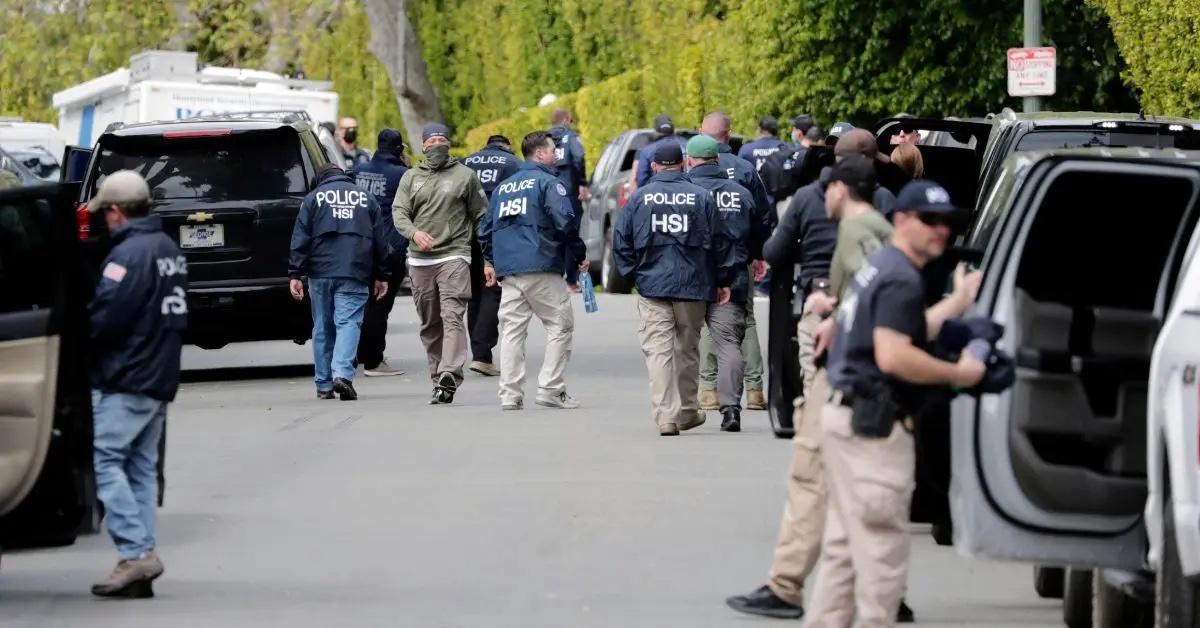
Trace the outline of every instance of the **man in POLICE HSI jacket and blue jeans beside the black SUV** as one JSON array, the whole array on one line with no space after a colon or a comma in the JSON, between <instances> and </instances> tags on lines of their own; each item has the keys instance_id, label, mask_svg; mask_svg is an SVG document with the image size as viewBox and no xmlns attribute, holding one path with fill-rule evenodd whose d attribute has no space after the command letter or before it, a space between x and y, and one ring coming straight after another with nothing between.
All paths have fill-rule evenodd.
<instances>
[{"instance_id":1,"label":"man in POLICE HSI jacket and blue jeans beside the black SUV","mask_svg":"<svg viewBox=\"0 0 1200 628\"><path fill-rule=\"evenodd\" d=\"M354 353L362 313L372 293L388 294L391 223L374 197L336 165L317 173L317 186L300 204L292 228L289 286L304 300L301 277L308 277L312 306L312 354L317 399L358 399Z\"/></svg>"}]
</instances>

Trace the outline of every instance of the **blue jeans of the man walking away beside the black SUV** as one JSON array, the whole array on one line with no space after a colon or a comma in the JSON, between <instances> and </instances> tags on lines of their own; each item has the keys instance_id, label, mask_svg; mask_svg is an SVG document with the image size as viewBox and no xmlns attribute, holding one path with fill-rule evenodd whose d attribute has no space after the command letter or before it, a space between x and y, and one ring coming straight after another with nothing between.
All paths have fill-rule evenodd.
<instances>
[{"instance_id":1,"label":"blue jeans of the man walking away beside the black SUV","mask_svg":"<svg viewBox=\"0 0 1200 628\"><path fill-rule=\"evenodd\" d=\"M354 355L370 292L366 283L353 279L308 277L317 390L332 390L335 377L354 379Z\"/></svg>"}]
</instances>

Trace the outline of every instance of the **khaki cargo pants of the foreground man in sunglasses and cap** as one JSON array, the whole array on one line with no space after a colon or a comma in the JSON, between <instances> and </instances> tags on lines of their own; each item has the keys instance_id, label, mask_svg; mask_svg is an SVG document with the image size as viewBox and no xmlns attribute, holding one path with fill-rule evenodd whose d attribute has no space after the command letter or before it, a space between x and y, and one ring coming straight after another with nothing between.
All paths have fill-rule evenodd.
<instances>
[{"instance_id":1,"label":"khaki cargo pants of the foreground man in sunglasses and cap","mask_svg":"<svg viewBox=\"0 0 1200 628\"><path fill-rule=\"evenodd\" d=\"M895 626L905 594L913 438L899 423L887 438L863 438L850 419L834 402L821 413L829 513L805 628Z\"/></svg>"}]
</instances>

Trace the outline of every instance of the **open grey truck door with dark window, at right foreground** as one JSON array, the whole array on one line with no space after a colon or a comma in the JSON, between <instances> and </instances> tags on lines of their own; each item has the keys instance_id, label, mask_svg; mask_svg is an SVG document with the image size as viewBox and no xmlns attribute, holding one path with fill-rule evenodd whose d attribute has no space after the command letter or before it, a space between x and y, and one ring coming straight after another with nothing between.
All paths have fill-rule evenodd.
<instances>
[{"instance_id":1,"label":"open grey truck door with dark window, at right foreground","mask_svg":"<svg viewBox=\"0 0 1200 628\"><path fill-rule=\"evenodd\" d=\"M1200 198L1200 165L1150 157L1033 157L985 208L1001 217L972 243L988 244L974 313L1006 327L1018 369L1009 390L953 403L954 544L967 554L1145 563L1150 359Z\"/></svg>"}]
</instances>

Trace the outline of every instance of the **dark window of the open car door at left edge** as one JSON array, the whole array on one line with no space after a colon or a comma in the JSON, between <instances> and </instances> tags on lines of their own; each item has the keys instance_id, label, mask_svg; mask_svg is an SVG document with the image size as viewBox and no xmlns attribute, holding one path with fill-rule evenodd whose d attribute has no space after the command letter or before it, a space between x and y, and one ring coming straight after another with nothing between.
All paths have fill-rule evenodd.
<instances>
[{"instance_id":1,"label":"dark window of the open car door at left edge","mask_svg":"<svg viewBox=\"0 0 1200 628\"><path fill-rule=\"evenodd\" d=\"M0 198L0 313L54 303L50 205L41 198Z\"/></svg>"}]
</instances>

